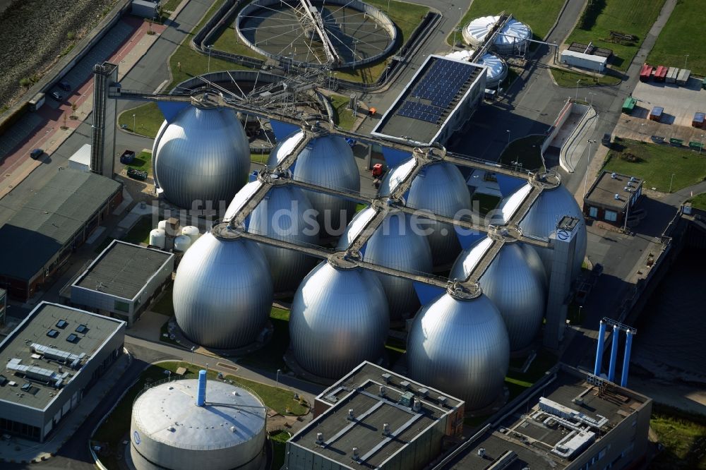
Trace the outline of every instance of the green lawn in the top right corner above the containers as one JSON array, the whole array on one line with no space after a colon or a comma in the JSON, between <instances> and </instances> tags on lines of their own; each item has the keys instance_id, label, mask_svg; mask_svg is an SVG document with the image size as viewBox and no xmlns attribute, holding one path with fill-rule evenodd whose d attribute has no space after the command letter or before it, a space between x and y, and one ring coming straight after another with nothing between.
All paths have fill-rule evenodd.
<instances>
[{"instance_id":1,"label":"green lawn in the top right corner above the containers","mask_svg":"<svg viewBox=\"0 0 706 470\"><path fill-rule=\"evenodd\" d=\"M706 75L706 52L702 47L694 47L694 38L702 35L703 24L695 18L702 18L703 0L679 0L669 20L657 37L647 63L683 67L698 76ZM688 59L686 54L689 54Z\"/></svg>"}]
</instances>

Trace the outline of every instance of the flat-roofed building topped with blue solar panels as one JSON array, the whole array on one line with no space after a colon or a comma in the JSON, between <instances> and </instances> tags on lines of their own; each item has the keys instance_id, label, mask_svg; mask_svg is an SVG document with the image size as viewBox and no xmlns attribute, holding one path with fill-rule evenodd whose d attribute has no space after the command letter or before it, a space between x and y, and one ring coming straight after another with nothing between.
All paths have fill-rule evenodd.
<instances>
[{"instance_id":1,"label":"flat-roofed building topped with blue solar panels","mask_svg":"<svg viewBox=\"0 0 706 470\"><path fill-rule=\"evenodd\" d=\"M475 112L485 88L485 66L431 55L371 135L443 145Z\"/></svg>"}]
</instances>

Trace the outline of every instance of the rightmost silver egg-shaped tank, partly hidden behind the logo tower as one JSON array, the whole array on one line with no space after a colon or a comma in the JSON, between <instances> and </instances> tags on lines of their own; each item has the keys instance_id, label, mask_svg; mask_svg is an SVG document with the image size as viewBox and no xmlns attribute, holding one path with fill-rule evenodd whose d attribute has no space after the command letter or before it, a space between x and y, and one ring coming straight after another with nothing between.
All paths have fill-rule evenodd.
<instances>
[{"instance_id":1,"label":"rightmost silver egg-shaped tank, partly hidden behind the logo tower","mask_svg":"<svg viewBox=\"0 0 706 470\"><path fill-rule=\"evenodd\" d=\"M508 212L512 212L514 207L520 203L521 198L519 196L529 191L528 186L530 186L529 183L525 186L520 186L515 193L503 200L499 207L501 212L503 212L503 217L507 217ZM578 225L575 228L576 245L571 270L572 279L576 279L581 273L581 265L586 256L586 223L583 219L581 208L573 197L573 194L569 193L563 185L559 185L556 188L547 188L542 191L542 194L539 195L539 198L537 198L534 205L532 205L530 212L527 212L525 219L522 219L522 222L520 222L520 229L522 229L525 234L548 237L556 230L556 224L558 224L561 217L565 215L570 215L578 219ZM542 258L547 277L551 277L551 260L553 253L551 248L537 248L537 253L539 257Z\"/></svg>"}]
</instances>

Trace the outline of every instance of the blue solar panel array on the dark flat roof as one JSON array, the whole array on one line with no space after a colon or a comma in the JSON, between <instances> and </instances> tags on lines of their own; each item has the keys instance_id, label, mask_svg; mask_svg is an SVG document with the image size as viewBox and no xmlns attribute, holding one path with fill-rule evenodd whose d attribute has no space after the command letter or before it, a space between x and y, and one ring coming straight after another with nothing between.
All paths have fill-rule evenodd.
<instances>
[{"instance_id":1,"label":"blue solar panel array on the dark flat roof","mask_svg":"<svg viewBox=\"0 0 706 470\"><path fill-rule=\"evenodd\" d=\"M405 100L397 114L438 123L473 71L472 66L460 62L435 61L410 94L417 100ZM428 100L431 104L423 104L419 100Z\"/></svg>"}]
</instances>

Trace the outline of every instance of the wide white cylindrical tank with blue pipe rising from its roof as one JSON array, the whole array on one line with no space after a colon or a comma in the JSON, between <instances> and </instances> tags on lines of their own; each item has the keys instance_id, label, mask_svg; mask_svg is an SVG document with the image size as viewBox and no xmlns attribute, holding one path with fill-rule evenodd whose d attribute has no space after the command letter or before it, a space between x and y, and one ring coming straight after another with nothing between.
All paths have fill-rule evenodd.
<instances>
[{"instance_id":1,"label":"wide white cylindrical tank with blue pipe rising from its roof","mask_svg":"<svg viewBox=\"0 0 706 470\"><path fill-rule=\"evenodd\" d=\"M145 390L133 403L130 457L137 470L257 470L263 463L266 409L241 387L209 380L204 406L197 380Z\"/></svg>"}]
</instances>

